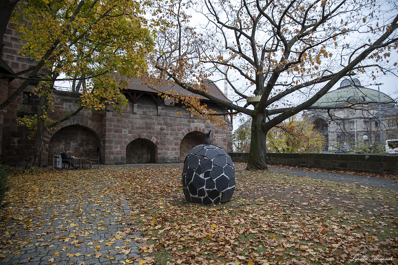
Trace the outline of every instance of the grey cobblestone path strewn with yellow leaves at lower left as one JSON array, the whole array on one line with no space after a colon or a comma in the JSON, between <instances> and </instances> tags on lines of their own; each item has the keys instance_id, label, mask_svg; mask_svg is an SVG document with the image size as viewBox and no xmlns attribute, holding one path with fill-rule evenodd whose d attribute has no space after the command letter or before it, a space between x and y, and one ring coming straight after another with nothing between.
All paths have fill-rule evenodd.
<instances>
[{"instance_id":1,"label":"grey cobblestone path strewn with yellow leaves at lower left","mask_svg":"<svg viewBox=\"0 0 398 265\"><path fill-rule=\"evenodd\" d=\"M48 170L10 176L0 264L138 264L140 234L109 170Z\"/></svg>"}]
</instances>

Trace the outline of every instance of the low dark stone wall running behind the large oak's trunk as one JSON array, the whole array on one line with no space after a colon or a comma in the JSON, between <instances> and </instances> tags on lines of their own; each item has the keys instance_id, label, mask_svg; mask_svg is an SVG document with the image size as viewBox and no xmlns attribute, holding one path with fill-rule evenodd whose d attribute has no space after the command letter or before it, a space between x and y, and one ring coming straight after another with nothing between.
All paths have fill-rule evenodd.
<instances>
[{"instance_id":1,"label":"low dark stone wall running behind the large oak's trunk","mask_svg":"<svg viewBox=\"0 0 398 265\"><path fill-rule=\"evenodd\" d=\"M228 154L234 162L249 159L249 153ZM267 164L398 176L398 155L395 154L267 153Z\"/></svg>"}]
</instances>

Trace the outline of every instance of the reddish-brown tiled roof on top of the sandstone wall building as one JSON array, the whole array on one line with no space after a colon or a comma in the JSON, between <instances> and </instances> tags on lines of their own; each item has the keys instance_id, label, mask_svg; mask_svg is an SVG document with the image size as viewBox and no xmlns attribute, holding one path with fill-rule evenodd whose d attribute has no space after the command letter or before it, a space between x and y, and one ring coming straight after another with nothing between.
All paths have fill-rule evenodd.
<instances>
[{"instance_id":1,"label":"reddish-brown tiled roof on top of the sandstone wall building","mask_svg":"<svg viewBox=\"0 0 398 265\"><path fill-rule=\"evenodd\" d=\"M136 91L144 91L144 92L152 92L152 93L163 93L164 91L170 91L171 89L174 89L176 93L182 93L183 95L195 95L194 93L191 93L179 85L176 85L174 82L164 82L161 85L153 85L148 82L148 79L146 77L134 77L134 78L127 78L127 77L120 77L120 75L114 73L115 77L121 78L124 81L127 81L129 83L129 89L131 90L136 90ZM217 97L219 99L222 99L224 101L231 102L222 92L221 90L217 87L215 83L213 83L210 80L205 80L204 81L206 88L209 90L209 94L212 95L213 97ZM209 100L205 97L202 97L200 95L197 95L201 99L206 99Z\"/></svg>"}]
</instances>

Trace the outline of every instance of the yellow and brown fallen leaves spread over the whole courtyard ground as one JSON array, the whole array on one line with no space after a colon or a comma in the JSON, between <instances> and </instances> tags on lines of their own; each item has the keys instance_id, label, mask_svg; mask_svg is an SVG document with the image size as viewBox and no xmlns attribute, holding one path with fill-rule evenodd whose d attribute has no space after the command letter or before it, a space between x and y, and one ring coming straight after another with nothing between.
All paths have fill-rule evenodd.
<instances>
[{"instance_id":1,"label":"yellow and brown fallen leaves spread over the whole courtyard ground","mask_svg":"<svg viewBox=\"0 0 398 265\"><path fill-rule=\"evenodd\" d=\"M179 164L153 164L12 176L11 205L0 224L0 257L18 255L29 244L51 248L55 241L64 246L53 250L50 259L92 255L110 264L305 265L353 259L351 264L398 264L396 191L237 166L229 203L193 205L183 197L181 171ZM98 209L116 209L119 198L126 198L131 215L118 218L123 228L111 238L92 240L89 230L74 226L76 218L100 230L116 213L105 210L96 219L84 215L88 195ZM76 203L74 212L63 212L69 203ZM53 216L46 215L49 205L56 205ZM45 224L51 228L37 234ZM131 231L140 236L124 238ZM52 242L41 241L46 234ZM121 238L123 245L114 248ZM139 256L131 255L131 244L139 244ZM78 245L92 253L70 252ZM105 247L127 258L117 260Z\"/></svg>"}]
</instances>

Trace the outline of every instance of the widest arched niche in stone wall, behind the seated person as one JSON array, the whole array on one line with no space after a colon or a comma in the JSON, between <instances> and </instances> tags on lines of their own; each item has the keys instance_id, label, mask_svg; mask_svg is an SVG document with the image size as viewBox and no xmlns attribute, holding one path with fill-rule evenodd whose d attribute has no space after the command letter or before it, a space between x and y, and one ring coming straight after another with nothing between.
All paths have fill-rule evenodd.
<instances>
[{"instance_id":1,"label":"widest arched niche in stone wall, behind the seated person","mask_svg":"<svg viewBox=\"0 0 398 265\"><path fill-rule=\"evenodd\" d=\"M49 157L47 161L49 164L53 164L53 156L60 155L64 150L69 150L69 156L99 156L100 147L100 139L91 129L80 125L66 126L51 137L48 144Z\"/></svg>"}]
</instances>

